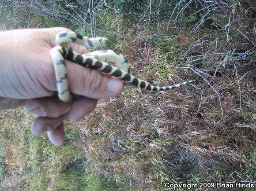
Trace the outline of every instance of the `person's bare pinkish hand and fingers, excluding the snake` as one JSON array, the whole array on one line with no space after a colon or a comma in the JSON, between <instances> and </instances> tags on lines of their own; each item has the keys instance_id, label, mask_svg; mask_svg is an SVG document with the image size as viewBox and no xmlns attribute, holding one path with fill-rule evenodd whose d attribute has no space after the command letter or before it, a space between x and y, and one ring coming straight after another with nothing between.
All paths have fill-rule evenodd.
<instances>
[{"instance_id":1,"label":"person's bare pinkish hand and fingers, excluding the snake","mask_svg":"<svg viewBox=\"0 0 256 191\"><path fill-rule=\"evenodd\" d=\"M73 98L60 101L49 54L60 31L68 29L0 32L0 110L26 107L28 113L38 115L32 123L32 133L47 132L54 145L64 142L64 120L79 121L94 110L98 99L118 95L123 88L123 82L116 78L66 60ZM88 53L78 44L71 46L80 54Z\"/></svg>"}]
</instances>

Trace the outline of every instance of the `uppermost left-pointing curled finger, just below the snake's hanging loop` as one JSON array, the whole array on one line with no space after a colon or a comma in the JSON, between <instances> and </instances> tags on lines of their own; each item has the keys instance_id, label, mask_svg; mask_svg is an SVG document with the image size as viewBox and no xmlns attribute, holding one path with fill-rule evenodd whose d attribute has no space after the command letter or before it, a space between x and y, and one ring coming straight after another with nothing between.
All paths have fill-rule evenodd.
<instances>
[{"instance_id":1,"label":"uppermost left-pointing curled finger, just below the snake's hanging loop","mask_svg":"<svg viewBox=\"0 0 256 191\"><path fill-rule=\"evenodd\" d=\"M71 110L73 101L62 102L57 97L30 99L26 103L26 111L41 117L57 118Z\"/></svg>"}]
</instances>

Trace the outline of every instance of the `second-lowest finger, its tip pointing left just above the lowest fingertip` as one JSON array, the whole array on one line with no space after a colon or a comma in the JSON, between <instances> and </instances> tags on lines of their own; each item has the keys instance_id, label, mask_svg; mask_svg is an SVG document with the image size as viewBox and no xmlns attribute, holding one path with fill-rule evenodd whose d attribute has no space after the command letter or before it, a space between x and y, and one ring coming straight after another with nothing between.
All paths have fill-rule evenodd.
<instances>
[{"instance_id":1,"label":"second-lowest finger, its tip pointing left just above the lowest fingertip","mask_svg":"<svg viewBox=\"0 0 256 191\"><path fill-rule=\"evenodd\" d=\"M52 131L58 127L67 117L68 114L63 114L58 118L38 117L32 123L31 132L34 135L40 135L44 132Z\"/></svg>"}]
</instances>

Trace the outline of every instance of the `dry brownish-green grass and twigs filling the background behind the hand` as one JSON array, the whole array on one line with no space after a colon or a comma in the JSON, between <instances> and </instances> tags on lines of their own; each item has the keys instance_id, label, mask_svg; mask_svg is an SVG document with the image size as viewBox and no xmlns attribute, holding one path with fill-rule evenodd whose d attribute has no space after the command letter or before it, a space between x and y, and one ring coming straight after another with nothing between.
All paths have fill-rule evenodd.
<instances>
[{"instance_id":1,"label":"dry brownish-green grass and twigs filling the background behind the hand","mask_svg":"<svg viewBox=\"0 0 256 191\"><path fill-rule=\"evenodd\" d=\"M158 93L125 85L83 120L66 121L61 147L32 136L34 116L23 109L2 111L0 187L153 191L166 181L255 181L253 1L77 2L3 1L0 26L106 36L137 77L196 82Z\"/></svg>"}]
</instances>

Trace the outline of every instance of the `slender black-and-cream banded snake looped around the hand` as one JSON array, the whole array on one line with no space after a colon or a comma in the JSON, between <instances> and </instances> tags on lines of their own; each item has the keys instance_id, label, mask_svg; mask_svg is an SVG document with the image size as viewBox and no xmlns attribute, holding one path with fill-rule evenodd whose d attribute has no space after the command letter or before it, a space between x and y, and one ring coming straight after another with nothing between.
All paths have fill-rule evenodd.
<instances>
[{"instance_id":1,"label":"slender black-and-cream banded snake looped around the hand","mask_svg":"<svg viewBox=\"0 0 256 191\"><path fill-rule=\"evenodd\" d=\"M87 48L98 48L105 46L108 43L108 39L105 37L89 38L72 31L60 32L56 35L56 46L50 50L50 55L53 60L58 96L60 100L64 102L69 101L72 98L68 89L68 72L64 59L76 62L79 65L94 70L99 70L149 91L169 90L194 81L190 80L181 84L169 86L149 84L147 81L141 80L129 73L129 64L127 60L117 51L98 50L80 55L76 51L72 50L68 42L77 43ZM107 62L115 62L116 66L109 65Z\"/></svg>"}]
</instances>

